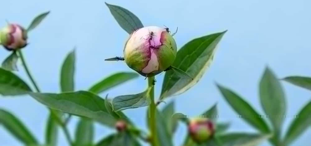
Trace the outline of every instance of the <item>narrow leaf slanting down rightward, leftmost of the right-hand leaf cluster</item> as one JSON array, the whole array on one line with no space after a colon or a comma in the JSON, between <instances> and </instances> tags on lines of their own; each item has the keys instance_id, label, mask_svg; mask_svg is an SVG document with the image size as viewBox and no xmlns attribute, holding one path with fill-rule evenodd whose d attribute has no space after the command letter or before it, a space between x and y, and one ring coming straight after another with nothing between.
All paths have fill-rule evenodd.
<instances>
[{"instance_id":1,"label":"narrow leaf slanting down rightward, leftmost of the right-hand leaf cluster","mask_svg":"<svg viewBox=\"0 0 311 146\"><path fill-rule=\"evenodd\" d=\"M252 125L263 133L270 133L268 125L263 120L262 115L259 115L252 106L244 101L239 95L231 90L217 85L225 100L230 106L242 117L248 124Z\"/></svg>"}]
</instances>

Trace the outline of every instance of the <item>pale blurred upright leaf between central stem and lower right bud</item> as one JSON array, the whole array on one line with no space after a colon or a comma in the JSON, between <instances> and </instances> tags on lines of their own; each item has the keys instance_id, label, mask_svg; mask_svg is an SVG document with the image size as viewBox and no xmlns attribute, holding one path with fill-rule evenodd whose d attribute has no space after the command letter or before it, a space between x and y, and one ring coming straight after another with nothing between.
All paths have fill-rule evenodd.
<instances>
[{"instance_id":1,"label":"pale blurred upright leaf between central stem and lower right bud","mask_svg":"<svg viewBox=\"0 0 311 146\"><path fill-rule=\"evenodd\" d=\"M173 136L174 131L176 130L178 120L176 118L172 118L172 115L175 113L175 104L174 101L170 102L166 105L163 110L161 111L163 115L163 119L168 128L168 132L170 136Z\"/></svg>"}]
</instances>

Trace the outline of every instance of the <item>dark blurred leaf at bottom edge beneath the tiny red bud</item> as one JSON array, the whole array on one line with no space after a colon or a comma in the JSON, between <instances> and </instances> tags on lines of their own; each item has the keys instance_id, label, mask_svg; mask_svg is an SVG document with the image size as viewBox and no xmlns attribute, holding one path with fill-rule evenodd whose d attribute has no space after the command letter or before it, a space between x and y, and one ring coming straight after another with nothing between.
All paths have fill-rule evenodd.
<instances>
[{"instance_id":1,"label":"dark blurred leaf at bottom edge beneath the tiny red bud","mask_svg":"<svg viewBox=\"0 0 311 146\"><path fill-rule=\"evenodd\" d=\"M95 146L141 146L141 144L130 133L122 132L105 137Z\"/></svg>"}]
</instances>

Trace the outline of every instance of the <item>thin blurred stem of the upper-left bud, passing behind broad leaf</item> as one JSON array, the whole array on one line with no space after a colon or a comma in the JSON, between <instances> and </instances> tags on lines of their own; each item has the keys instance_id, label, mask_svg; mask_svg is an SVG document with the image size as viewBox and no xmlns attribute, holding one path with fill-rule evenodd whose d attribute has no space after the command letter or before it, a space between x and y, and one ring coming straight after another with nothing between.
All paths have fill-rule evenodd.
<instances>
[{"instance_id":1,"label":"thin blurred stem of the upper-left bud, passing behind broad leaf","mask_svg":"<svg viewBox=\"0 0 311 146\"><path fill-rule=\"evenodd\" d=\"M33 86L35 87L36 91L40 92L40 89L39 89L37 83L35 82L34 78L31 76L31 73L30 73L30 71L29 71L29 69L27 67L27 64L26 64L25 58L23 56L23 53L21 52L21 50L18 50L17 52L18 52L18 54L19 54L19 56L21 58L21 62L23 64L23 67L24 67L27 75L28 75L28 78L30 79L30 81L33 84ZM63 129L63 131L64 131L64 133L66 135L67 141L70 143L70 145L73 146L73 142L72 142L72 140L70 138L70 134L69 134L69 131L68 131L66 125L62 122L61 118L52 109L49 108L49 110L54 115L54 117L57 118L58 124L61 125L61 127L62 127L62 129Z\"/></svg>"}]
</instances>

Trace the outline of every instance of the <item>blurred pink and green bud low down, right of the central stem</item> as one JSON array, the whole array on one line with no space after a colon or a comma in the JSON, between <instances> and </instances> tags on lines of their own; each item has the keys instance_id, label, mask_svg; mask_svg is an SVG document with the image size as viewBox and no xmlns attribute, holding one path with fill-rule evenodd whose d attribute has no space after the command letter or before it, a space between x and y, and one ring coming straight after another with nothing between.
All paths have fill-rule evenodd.
<instances>
[{"instance_id":1,"label":"blurred pink and green bud low down, right of the central stem","mask_svg":"<svg viewBox=\"0 0 311 146\"><path fill-rule=\"evenodd\" d=\"M208 118L197 118L189 122L188 130L190 136L195 142L202 143L206 142L213 136L215 127L212 121Z\"/></svg>"}]
</instances>

